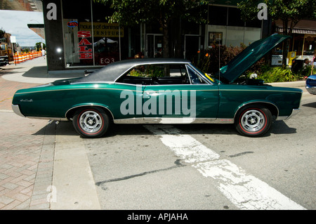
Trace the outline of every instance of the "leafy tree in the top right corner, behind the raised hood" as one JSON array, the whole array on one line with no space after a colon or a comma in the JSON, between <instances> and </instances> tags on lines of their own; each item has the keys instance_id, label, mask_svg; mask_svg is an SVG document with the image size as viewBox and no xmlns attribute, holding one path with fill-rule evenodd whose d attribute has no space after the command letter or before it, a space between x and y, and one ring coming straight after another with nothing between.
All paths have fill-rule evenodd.
<instances>
[{"instance_id":1,"label":"leafy tree in the top right corner, behind the raised hood","mask_svg":"<svg viewBox=\"0 0 316 224\"><path fill-rule=\"evenodd\" d=\"M265 3L268 7L268 17L272 20L282 20L283 34L291 35L293 28L302 19L316 18L316 1L315 0L245 0L238 4L238 8L242 11L242 19L255 20L258 19L259 3ZM289 39L283 44L283 60L282 66L287 66L287 46Z\"/></svg>"}]
</instances>

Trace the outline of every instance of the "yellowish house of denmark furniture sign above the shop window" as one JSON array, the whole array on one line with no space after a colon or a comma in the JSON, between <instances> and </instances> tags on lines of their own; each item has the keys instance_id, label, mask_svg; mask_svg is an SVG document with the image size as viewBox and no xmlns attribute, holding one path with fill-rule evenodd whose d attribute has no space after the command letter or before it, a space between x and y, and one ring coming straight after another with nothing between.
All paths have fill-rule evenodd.
<instances>
[{"instance_id":1,"label":"yellowish house of denmark furniture sign above the shop window","mask_svg":"<svg viewBox=\"0 0 316 224\"><path fill-rule=\"evenodd\" d=\"M93 22L93 27L91 22L79 23L80 30L92 32L92 28L93 37L124 37L124 29L118 23Z\"/></svg>"}]
</instances>

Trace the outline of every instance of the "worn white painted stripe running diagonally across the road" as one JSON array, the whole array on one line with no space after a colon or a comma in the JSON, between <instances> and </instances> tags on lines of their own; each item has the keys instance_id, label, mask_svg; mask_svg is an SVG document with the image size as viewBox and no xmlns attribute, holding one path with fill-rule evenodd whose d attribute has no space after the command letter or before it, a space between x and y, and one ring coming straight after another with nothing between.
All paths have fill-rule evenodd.
<instances>
[{"instance_id":1,"label":"worn white painted stripe running diagonally across the road","mask_svg":"<svg viewBox=\"0 0 316 224\"><path fill-rule=\"evenodd\" d=\"M205 177L216 180L217 188L239 209L248 210L305 210L267 183L246 173L228 159L199 143L189 135L181 134L173 126L144 126L168 146L183 162L192 164Z\"/></svg>"}]
</instances>

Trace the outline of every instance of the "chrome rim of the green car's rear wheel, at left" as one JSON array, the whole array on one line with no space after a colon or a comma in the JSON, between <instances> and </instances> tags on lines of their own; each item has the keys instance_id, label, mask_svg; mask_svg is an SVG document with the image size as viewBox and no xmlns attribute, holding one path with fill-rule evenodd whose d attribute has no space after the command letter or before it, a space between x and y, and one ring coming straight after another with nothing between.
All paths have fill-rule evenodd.
<instances>
[{"instance_id":1,"label":"chrome rim of the green car's rear wheel, at left","mask_svg":"<svg viewBox=\"0 0 316 224\"><path fill-rule=\"evenodd\" d=\"M103 126L102 117L97 112L88 110L81 114L79 125L87 133L96 133Z\"/></svg>"}]
</instances>

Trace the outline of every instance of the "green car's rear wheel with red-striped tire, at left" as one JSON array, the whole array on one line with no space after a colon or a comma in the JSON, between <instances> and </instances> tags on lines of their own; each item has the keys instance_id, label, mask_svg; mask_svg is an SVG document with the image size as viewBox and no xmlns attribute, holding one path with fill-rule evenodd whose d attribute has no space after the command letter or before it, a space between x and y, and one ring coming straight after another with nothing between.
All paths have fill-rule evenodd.
<instances>
[{"instance_id":1,"label":"green car's rear wheel with red-striped tire, at left","mask_svg":"<svg viewBox=\"0 0 316 224\"><path fill-rule=\"evenodd\" d=\"M84 138L100 138L105 135L110 122L107 114L98 107L84 107L72 117L74 129Z\"/></svg>"}]
</instances>

